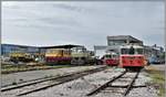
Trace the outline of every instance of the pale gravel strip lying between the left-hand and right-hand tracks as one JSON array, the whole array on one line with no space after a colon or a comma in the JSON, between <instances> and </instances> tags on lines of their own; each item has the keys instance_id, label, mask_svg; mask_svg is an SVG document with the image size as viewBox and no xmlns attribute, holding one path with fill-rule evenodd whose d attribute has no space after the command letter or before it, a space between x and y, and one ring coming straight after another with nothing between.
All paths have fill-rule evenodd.
<instances>
[{"instance_id":1,"label":"pale gravel strip lying between the left-hand and right-hand tracks","mask_svg":"<svg viewBox=\"0 0 166 97\"><path fill-rule=\"evenodd\" d=\"M98 84L105 83L108 80L108 77L113 77L115 75L110 75L111 69L105 72L95 73L83 78L79 78L76 80L65 83L52 88L49 88L43 91L38 91L34 94L30 94L23 97L85 97L90 90L96 88ZM120 73L120 72L118 72ZM115 73L114 73L115 74ZM98 77L98 75L103 75ZM117 75L117 74L116 74Z\"/></svg>"}]
</instances>

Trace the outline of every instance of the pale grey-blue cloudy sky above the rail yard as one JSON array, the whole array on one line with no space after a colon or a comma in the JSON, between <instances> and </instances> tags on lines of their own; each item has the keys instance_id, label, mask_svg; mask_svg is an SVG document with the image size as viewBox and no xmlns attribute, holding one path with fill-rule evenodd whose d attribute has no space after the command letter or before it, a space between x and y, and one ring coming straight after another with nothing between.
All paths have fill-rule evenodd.
<instances>
[{"instance_id":1,"label":"pale grey-blue cloudy sky above the rail yard","mask_svg":"<svg viewBox=\"0 0 166 97\"><path fill-rule=\"evenodd\" d=\"M163 1L2 1L1 42L51 46L107 45L107 35L132 35L164 46Z\"/></svg>"}]
</instances>

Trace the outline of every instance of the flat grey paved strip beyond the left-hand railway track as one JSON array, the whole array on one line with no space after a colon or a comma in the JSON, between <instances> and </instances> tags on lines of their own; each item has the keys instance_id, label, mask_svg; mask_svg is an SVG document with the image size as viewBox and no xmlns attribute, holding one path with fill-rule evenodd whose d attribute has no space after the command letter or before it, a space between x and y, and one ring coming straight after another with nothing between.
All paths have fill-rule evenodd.
<instances>
[{"instance_id":1,"label":"flat grey paved strip beyond the left-hand railway track","mask_svg":"<svg viewBox=\"0 0 166 97\"><path fill-rule=\"evenodd\" d=\"M20 72L1 75L1 85L10 85L12 83L20 83L22 80L31 80L37 78L43 78L46 76L56 76L63 75L65 73L85 71L89 68L96 68L97 66L76 66L76 67L66 67L66 68L56 68L56 69L43 69L43 71L30 71L30 72Z\"/></svg>"}]
</instances>

